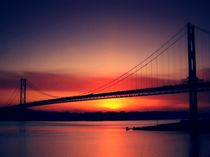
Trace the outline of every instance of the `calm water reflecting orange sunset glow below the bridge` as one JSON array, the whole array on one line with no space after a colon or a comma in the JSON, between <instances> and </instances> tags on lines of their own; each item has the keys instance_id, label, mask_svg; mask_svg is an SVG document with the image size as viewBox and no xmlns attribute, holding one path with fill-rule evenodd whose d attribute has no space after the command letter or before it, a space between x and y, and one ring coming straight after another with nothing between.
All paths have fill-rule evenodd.
<instances>
[{"instance_id":1,"label":"calm water reflecting orange sunset glow below the bridge","mask_svg":"<svg viewBox=\"0 0 210 157\"><path fill-rule=\"evenodd\" d=\"M0 122L0 156L210 156L210 134L194 137L181 132L125 131L126 126L155 123L157 122Z\"/></svg>"}]
</instances>

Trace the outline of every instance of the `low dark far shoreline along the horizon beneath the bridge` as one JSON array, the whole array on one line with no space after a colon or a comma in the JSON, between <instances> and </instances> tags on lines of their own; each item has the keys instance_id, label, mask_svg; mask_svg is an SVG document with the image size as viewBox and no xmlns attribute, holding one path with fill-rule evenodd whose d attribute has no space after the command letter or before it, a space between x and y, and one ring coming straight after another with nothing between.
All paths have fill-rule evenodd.
<instances>
[{"instance_id":1,"label":"low dark far shoreline along the horizon beneath the bridge","mask_svg":"<svg viewBox=\"0 0 210 157\"><path fill-rule=\"evenodd\" d=\"M207 118L210 111L201 113ZM0 120L14 121L105 121L105 120L159 120L187 119L188 111L150 111L150 112L50 112L22 108L19 106L0 109Z\"/></svg>"}]
</instances>

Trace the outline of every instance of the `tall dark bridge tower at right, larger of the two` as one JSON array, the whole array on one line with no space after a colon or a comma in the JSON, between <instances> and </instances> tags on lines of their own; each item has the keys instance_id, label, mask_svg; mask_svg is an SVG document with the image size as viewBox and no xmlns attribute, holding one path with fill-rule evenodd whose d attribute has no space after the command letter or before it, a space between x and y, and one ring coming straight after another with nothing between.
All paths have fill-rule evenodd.
<instances>
[{"instance_id":1,"label":"tall dark bridge tower at right, larger of the two","mask_svg":"<svg viewBox=\"0 0 210 157\"><path fill-rule=\"evenodd\" d=\"M189 88L189 112L191 127L195 128L198 123L197 107L197 74L196 74L196 50L195 29L190 23L187 24L188 41L188 88Z\"/></svg>"}]
</instances>

